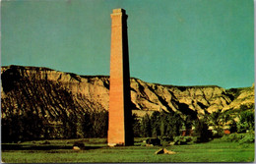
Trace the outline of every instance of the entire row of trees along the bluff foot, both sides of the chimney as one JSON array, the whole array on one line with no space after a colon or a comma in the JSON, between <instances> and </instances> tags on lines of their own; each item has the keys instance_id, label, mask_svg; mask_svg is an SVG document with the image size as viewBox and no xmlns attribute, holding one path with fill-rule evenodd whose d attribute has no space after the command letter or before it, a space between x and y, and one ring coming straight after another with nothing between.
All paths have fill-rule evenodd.
<instances>
[{"instance_id":1,"label":"entire row of trees along the bluff foot, both sides of the chimney","mask_svg":"<svg viewBox=\"0 0 256 164\"><path fill-rule=\"evenodd\" d=\"M254 108L254 106L253 106ZM234 121L232 111L205 114L203 118L192 118L190 115L181 118L175 112L158 112L144 117L132 117L134 137L173 137L181 136L180 130L191 130L198 141L208 141L213 136L209 126L217 131L216 136L224 135L223 127L229 124L232 133L254 131L254 111L242 106L239 109L238 122ZM12 113L2 118L2 142L18 142L33 139L49 138L85 138L107 137L108 111L85 112L83 114L69 113L49 123L32 111L22 114Z\"/></svg>"}]
</instances>

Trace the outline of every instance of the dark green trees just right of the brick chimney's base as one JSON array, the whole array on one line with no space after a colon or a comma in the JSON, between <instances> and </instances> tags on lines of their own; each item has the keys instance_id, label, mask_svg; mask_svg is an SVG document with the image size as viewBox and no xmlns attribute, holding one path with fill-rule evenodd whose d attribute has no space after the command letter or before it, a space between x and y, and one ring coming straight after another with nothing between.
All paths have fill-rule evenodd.
<instances>
[{"instance_id":1,"label":"dark green trees just right of the brick chimney's base","mask_svg":"<svg viewBox=\"0 0 256 164\"><path fill-rule=\"evenodd\" d=\"M136 117L135 117L136 118ZM190 115L181 118L175 112L154 112L146 114L141 121L134 120L133 131L135 137L161 137L173 140L182 135L182 130L191 130L195 127L193 136L198 142L208 141L212 136L205 119L193 118Z\"/></svg>"}]
</instances>

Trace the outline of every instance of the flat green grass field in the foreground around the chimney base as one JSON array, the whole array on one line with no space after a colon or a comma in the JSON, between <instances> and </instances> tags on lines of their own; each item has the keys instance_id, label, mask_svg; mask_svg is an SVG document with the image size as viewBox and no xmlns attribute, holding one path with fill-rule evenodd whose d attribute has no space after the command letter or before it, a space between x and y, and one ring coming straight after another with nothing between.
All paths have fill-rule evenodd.
<instances>
[{"instance_id":1,"label":"flat green grass field in the foreground around the chimney base","mask_svg":"<svg viewBox=\"0 0 256 164\"><path fill-rule=\"evenodd\" d=\"M73 150L82 140L84 150ZM136 138L134 146L108 147L105 138L37 140L2 144L2 162L7 163L76 163L76 162L253 162L254 143L239 144L215 139L188 145L145 146ZM161 147L176 154L159 154Z\"/></svg>"}]
</instances>

